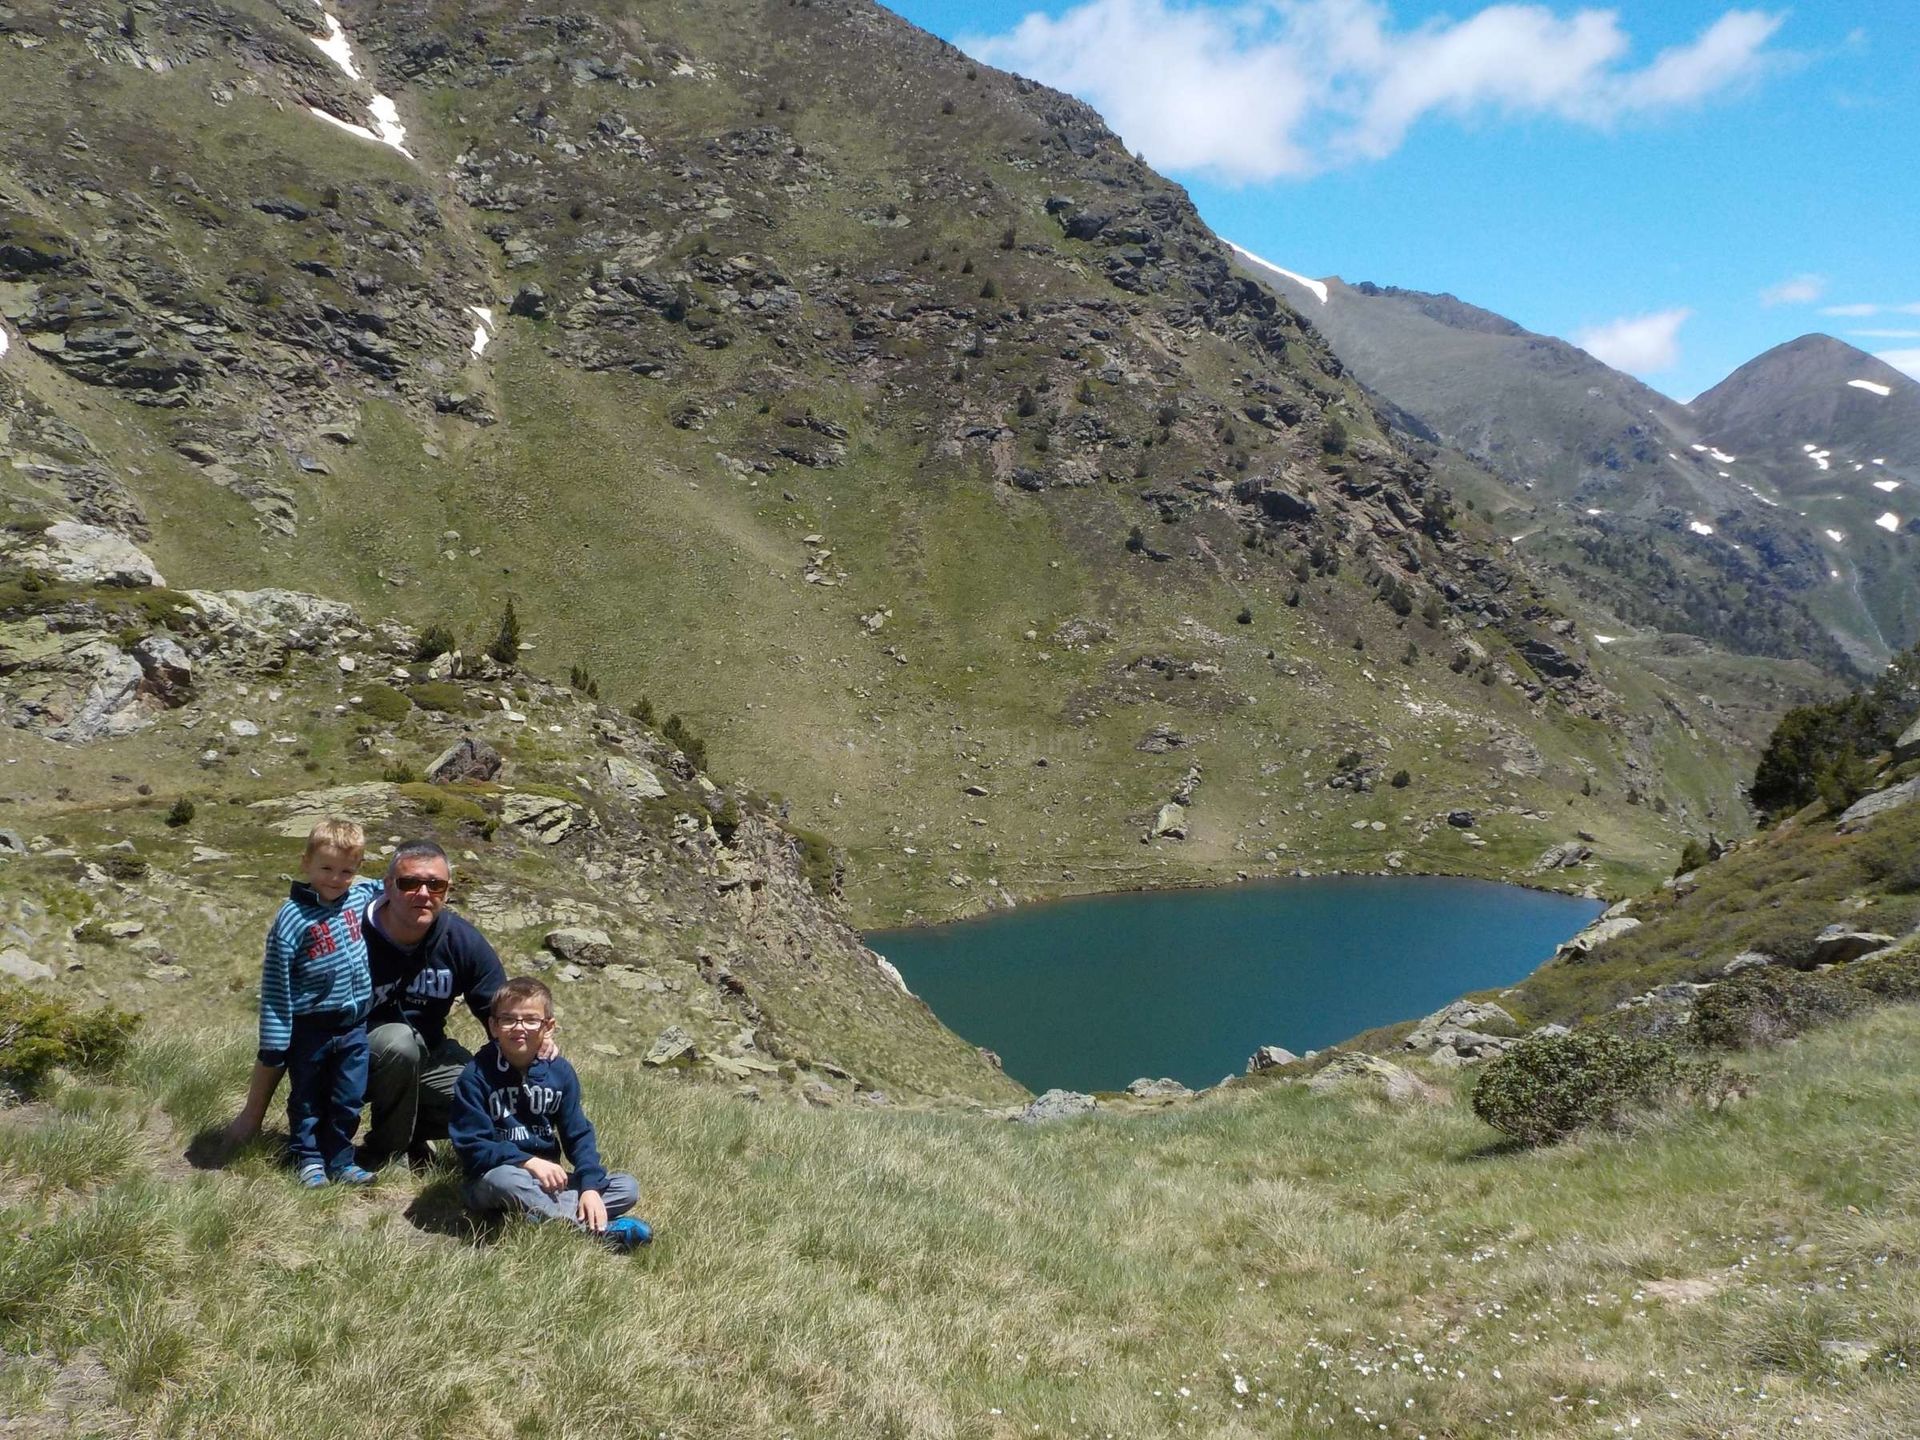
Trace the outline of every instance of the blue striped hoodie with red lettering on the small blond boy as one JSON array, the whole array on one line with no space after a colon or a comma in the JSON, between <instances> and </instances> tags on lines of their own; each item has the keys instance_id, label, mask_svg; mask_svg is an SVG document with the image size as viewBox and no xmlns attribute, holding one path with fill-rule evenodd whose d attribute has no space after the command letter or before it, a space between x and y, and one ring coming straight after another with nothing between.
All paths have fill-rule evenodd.
<instances>
[{"instance_id":1,"label":"blue striped hoodie with red lettering on the small blond boy","mask_svg":"<svg viewBox=\"0 0 1920 1440\"><path fill-rule=\"evenodd\" d=\"M367 939L361 916L380 893L380 881L357 879L338 900L326 902L303 881L294 881L280 914L267 931L267 958L259 970L259 1062L284 1066L296 1016L332 1016L342 1025L367 1018L372 979L367 973Z\"/></svg>"}]
</instances>

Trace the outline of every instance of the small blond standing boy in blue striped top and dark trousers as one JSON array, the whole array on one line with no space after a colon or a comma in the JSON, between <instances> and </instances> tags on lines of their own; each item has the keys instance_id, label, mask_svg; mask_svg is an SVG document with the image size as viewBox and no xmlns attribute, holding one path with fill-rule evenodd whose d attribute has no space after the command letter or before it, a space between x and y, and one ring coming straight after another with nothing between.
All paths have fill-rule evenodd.
<instances>
[{"instance_id":1,"label":"small blond standing boy in blue striped top and dark trousers","mask_svg":"<svg viewBox=\"0 0 1920 1440\"><path fill-rule=\"evenodd\" d=\"M288 1150L300 1183L315 1188L372 1185L372 1171L353 1164L353 1131L367 1100L367 941L361 912L374 895L359 881L367 835L351 820L323 820L307 835L300 874L267 931L259 975L261 1077L278 1083L288 1073ZM271 1085L261 1092L265 1110ZM253 1096L230 1133L257 1129Z\"/></svg>"}]
</instances>

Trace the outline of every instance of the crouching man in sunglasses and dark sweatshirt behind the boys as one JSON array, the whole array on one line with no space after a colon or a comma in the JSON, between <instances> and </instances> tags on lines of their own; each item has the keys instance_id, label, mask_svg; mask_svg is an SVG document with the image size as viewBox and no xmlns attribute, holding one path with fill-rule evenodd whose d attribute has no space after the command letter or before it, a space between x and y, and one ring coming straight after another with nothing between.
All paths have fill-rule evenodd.
<instances>
[{"instance_id":1,"label":"crouching man in sunglasses and dark sweatshirt behind the boys","mask_svg":"<svg viewBox=\"0 0 1920 1440\"><path fill-rule=\"evenodd\" d=\"M465 1000L482 1025L493 991L507 981L493 947L467 920L447 910L453 868L434 841L407 841L386 866L386 885L367 906L367 966L372 1012L367 1016L371 1119L361 1164L378 1169L405 1154L422 1164L428 1140L447 1135L453 1083L472 1060L447 1035L453 1000Z\"/></svg>"}]
</instances>

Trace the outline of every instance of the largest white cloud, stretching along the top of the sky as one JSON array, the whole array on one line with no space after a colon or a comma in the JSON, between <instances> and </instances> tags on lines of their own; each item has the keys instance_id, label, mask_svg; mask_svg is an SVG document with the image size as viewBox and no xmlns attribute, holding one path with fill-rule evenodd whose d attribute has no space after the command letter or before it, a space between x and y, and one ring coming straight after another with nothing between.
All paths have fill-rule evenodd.
<instances>
[{"instance_id":1,"label":"largest white cloud, stretching along the top of the sky","mask_svg":"<svg viewBox=\"0 0 1920 1440\"><path fill-rule=\"evenodd\" d=\"M1089 100L1164 169L1271 180L1390 156L1432 115L1609 127L1692 106L1763 73L1784 19L1728 10L1640 67L1615 12L1544 4L1396 29L1384 0L1083 0L962 44Z\"/></svg>"}]
</instances>

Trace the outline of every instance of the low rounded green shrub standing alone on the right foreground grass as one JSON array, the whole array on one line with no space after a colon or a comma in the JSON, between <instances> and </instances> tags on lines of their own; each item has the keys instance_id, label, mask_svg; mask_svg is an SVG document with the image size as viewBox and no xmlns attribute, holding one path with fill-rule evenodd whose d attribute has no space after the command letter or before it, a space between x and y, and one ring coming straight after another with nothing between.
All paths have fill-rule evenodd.
<instances>
[{"instance_id":1,"label":"low rounded green shrub standing alone on the right foreground grass","mask_svg":"<svg viewBox=\"0 0 1920 1440\"><path fill-rule=\"evenodd\" d=\"M1663 1041L1580 1029L1521 1041L1473 1089L1473 1114L1526 1144L1620 1125L1674 1100L1716 1098L1720 1068Z\"/></svg>"}]
</instances>

